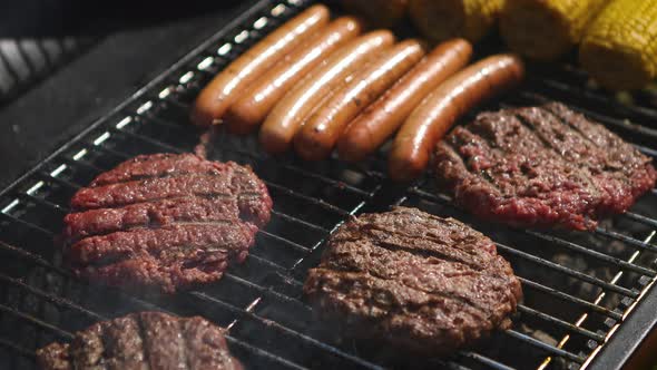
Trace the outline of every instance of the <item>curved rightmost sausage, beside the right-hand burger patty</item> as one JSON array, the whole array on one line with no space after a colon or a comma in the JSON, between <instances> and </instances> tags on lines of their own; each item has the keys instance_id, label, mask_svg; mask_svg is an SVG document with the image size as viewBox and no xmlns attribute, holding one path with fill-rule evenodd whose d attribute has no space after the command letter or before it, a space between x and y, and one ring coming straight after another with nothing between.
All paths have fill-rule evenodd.
<instances>
[{"instance_id":1,"label":"curved rightmost sausage, beside the right-hand burger patty","mask_svg":"<svg viewBox=\"0 0 657 370\"><path fill-rule=\"evenodd\" d=\"M481 100L516 86L523 75L524 67L518 57L497 55L450 77L402 125L390 150L390 177L418 177L426 167L433 146L461 115Z\"/></svg>"}]
</instances>

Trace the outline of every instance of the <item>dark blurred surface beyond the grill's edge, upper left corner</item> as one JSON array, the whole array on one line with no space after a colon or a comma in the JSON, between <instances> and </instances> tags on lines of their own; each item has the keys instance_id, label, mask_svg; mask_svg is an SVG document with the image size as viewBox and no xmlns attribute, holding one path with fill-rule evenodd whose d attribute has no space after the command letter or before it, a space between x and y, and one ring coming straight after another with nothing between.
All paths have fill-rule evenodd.
<instances>
[{"instance_id":1,"label":"dark blurred surface beyond the grill's edge, upper left corner","mask_svg":"<svg viewBox=\"0 0 657 370\"><path fill-rule=\"evenodd\" d=\"M28 171L253 2L3 2L0 186Z\"/></svg>"}]
</instances>

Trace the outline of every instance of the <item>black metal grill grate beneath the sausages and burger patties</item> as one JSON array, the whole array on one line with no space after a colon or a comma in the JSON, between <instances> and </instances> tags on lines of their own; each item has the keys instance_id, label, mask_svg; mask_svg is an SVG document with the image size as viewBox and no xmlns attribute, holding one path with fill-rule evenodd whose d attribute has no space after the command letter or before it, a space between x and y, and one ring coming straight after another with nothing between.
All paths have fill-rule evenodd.
<instances>
[{"instance_id":1,"label":"black metal grill grate beneath the sausages and burger patties","mask_svg":"<svg viewBox=\"0 0 657 370\"><path fill-rule=\"evenodd\" d=\"M471 217L434 188L385 177L384 156L351 166L272 158L253 137L218 130L209 156L248 164L274 198L271 224L247 261L224 279L174 296L128 294L75 279L53 238L72 193L137 154L190 152L199 133L187 124L199 89L227 62L312 1L261 0L0 193L0 368L31 369L35 350L67 341L98 320L139 310L200 314L229 330L232 351L248 369L382 369L399 366L366 343L320 328L301 288L323 242L350 215L415 206L453 216L493 238L523 285L512 329L450 358L451 369L617 369L657 321L657 191L591 233L537 232ZM556 99L606 124L657 156L657 110L629 107L586 88L577 68L530 66L518 91L483 107ZM404 360L404 359L402 359ZM411 361L405 359L404 361Z\"/></svg>"}]
</instances>

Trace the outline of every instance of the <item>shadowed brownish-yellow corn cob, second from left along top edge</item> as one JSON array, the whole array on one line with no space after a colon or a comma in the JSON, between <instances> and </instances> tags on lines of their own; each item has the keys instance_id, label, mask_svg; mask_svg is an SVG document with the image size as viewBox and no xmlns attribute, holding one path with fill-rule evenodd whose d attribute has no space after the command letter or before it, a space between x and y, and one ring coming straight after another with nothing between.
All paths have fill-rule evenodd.
<instances>
[{"instance_id":1,"label":"shadowed brownish-yellow corn cob, second from left along top edge","mask_svg":"<svg viewBox=\"0 0 657 370\"><path fill-rule=\"evenodd\" d=\"M481 39L494 25L503 0L411 0L409 12L432 41L462 37Z\"/></svg>"}]
</instances>

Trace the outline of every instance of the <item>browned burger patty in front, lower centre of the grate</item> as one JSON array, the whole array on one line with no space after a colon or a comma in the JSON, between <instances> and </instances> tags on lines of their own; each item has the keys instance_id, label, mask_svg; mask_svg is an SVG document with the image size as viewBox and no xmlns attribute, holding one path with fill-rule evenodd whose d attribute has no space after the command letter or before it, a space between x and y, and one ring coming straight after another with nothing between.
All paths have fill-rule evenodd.
<instances>
[{"instance_id":1,"label":"browned burger patty in front, lower centre of the grate","mask_svg":"<svg viewBox=\"0 0 657 370\"><path fill-rule=\"evenodd\" d=\"M509 328L522 296L488 237L405 207L342 225L304 293L321 320L349 335L426 356Z\"/></svg>"}]
</instances>

